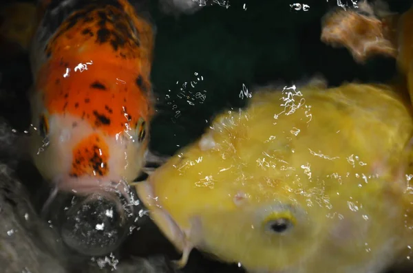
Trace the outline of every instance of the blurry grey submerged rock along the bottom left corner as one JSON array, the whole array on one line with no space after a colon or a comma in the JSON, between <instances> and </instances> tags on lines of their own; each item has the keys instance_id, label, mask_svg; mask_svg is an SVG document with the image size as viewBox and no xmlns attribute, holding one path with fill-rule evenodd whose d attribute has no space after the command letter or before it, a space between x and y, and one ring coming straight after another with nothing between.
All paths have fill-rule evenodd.
<instances>
[{"instance_id":1,"label":"blurry grey submerged rock along the bottom left corner","mask_svg":"<svg viewBox=\"0 0 413 273\"><path fill-rule=\"evenodd\" d=\"M58 228L36 211L26 179L17 171L22 153L19 133L0 120L0 265L1 273L173 273L164 256L121 259L118 253L91 257L74 253ZM20 147L21 148L21 147ZM145 248L145 246L144 246ZM144 251L145 252L145 251ZM129 256L129 255L128 255Z\"/></svg>"}]
</instances>

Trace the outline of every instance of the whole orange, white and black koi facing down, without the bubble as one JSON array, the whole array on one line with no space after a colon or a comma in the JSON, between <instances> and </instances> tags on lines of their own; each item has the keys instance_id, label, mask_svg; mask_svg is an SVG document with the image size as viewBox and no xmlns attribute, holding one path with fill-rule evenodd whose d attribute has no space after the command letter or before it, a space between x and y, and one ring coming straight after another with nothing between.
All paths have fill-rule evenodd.
<instances>
[{"instance_id":1,"label":"whole orange, white and black koi facing down, without the bubble","mask_svg":"<svg viewBox=\"0 0 413 273\"><path fill-rule=\"evenodd\" d=\"M56 190L118 190L145 165L154 28L127 0L42 0L30 47L34 164Z\"/></svg>"}]
</instances>

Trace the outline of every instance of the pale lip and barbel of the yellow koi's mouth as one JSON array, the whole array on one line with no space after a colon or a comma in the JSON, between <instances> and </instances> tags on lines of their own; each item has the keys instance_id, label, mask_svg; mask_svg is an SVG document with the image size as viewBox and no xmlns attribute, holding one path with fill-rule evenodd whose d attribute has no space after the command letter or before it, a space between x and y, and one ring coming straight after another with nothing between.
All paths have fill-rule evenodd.
<instances>
[{"instance_id":1,"label":"pale lip and barbel of the yellow koi's mouth","mask_svg":"<svg viewBox=\"0 0 413 273\"><path fill-rule=\"evenodd\" d=\"M151 219L175 248L182 252L182 258L176 261L176 263L178 267L183 267L187 263L189 252L192 249L191 244L187 240L187 234L185 234L184 230L173 220L169 212L162 208L162 204L160 204L158 197L156 197L153 184L150 180L138 182L135 186L136 193L140 201L148 208Z\"/></svg>"}]
</instances>

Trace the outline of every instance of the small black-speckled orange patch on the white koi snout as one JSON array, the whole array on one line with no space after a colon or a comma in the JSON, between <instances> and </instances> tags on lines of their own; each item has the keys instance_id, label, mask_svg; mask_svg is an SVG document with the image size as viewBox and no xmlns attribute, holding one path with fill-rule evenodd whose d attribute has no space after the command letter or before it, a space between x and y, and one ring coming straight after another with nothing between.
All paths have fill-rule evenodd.
<instances>
[{"instance_id":1,"label":"small black-speckled orange patch on the white koi snout","mask_svg":"<svg viewBox=\"0 0 413 273\"><path fill-rule=\"evenodd\" d=\"M73 149L73 162L70 176L82 175L103 177L109 173L107 161L109 147L100 135L94 133L79 142Z\"/></svg>"}]
</instances>

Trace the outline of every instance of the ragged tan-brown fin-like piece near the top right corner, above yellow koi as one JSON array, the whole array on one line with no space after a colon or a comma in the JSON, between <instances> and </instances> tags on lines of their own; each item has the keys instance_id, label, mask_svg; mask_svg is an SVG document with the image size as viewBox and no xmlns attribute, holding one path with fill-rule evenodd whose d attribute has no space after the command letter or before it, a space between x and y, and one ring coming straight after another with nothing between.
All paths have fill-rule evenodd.
<instances>
[{"instance_id":1,"label":"ragged tan-brown fin-like piece near the top right corner, above yellow koi","mask_svg":"<svg viewBox=\"0 0 413 273\"><path fill-rule=\"evenodd\" d=\"M396 58L397 20L393 20L393 14L385 12L380 4L373 6L364 1L360 6L359 10L328 12L321 22L321 41L332 47L346 47L358 63L366 63L373 55Z\"/></svg>"}]
</instances>

